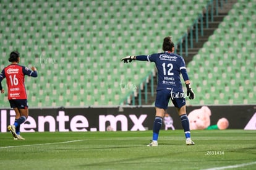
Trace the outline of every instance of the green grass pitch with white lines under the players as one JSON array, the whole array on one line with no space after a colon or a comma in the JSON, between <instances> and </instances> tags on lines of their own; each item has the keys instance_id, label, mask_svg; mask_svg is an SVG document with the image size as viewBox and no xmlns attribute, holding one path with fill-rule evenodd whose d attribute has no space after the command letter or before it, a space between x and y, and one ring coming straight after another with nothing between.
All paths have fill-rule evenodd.
<instances>
[{"instance_id":1,"label":"green grass pitch with white lines under the players","mask_svg":"<svg viewBox=\"0 0 256 170\"><path fill-rule=\"evenodd\" d=\"M0 134L0 169L256 169L255 130L161 130L158 147L144 132Z\"/></svg>"}]
</instances>

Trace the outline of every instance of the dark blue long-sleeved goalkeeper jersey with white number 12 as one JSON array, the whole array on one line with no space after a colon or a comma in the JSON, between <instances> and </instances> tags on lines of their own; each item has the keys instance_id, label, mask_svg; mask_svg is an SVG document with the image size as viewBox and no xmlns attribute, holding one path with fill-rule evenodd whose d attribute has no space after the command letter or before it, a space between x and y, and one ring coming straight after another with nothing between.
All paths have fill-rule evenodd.
<instances>
[{"instance_id":1,"label":"dark blue long-sleeved goalkeeper jersey with white number 12","mask_svg":"<svg viewBox=\"0 0 256 170\"><path fill-rule=\"evenodd\" d=\"M158 70L158 86L156 90L167 89L183 92L180 75L182 69L186 71L186 64L182 56L165 51L164 53L148 56L136 56L136 60L155 62Z\"/></svg>"}]
</instances>

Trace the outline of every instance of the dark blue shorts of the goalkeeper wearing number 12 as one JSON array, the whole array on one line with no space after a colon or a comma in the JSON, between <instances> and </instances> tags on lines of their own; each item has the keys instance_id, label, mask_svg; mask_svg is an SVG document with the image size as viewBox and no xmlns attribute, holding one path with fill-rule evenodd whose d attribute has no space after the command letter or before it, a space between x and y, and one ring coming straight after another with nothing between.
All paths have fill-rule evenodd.
<instances>
[{"instance_id":1,"label":"dark blue shorts of the goalkeeper wearing number 12","mask_svg":"<svg viewBox=\"0 0 256 170\"><path fill-rule=\"evenodd\" d=\"M173 102L176 108L181 108L186 104L183 92L173 92L171 90L158 90L156 91L155 106L161 109L167 109L169 100Z\"/></svg>"}]
</instances>

